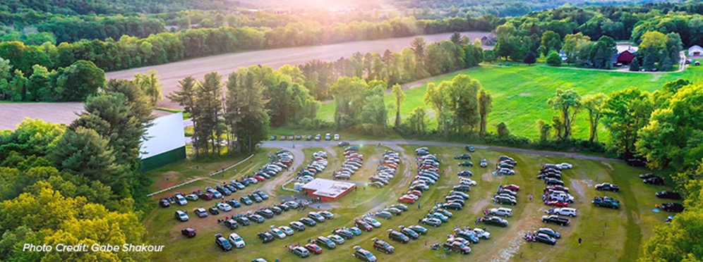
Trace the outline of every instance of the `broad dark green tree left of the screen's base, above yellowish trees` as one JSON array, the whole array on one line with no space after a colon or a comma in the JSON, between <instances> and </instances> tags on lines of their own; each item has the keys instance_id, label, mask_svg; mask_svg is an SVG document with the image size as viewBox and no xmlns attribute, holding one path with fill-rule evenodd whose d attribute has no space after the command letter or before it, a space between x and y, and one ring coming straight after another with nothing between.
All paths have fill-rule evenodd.
<instances>
[{"instance_id":1,"label":"broad dark green tree left of the screen's base, above yellowish trees","mask_svg":"<svg viewBox=\"0 0 703 262\"><path fill-rule=\"evenodd\" d=\"M76 127L61 136L49 159L60 170L114 185L121 180L121 174L108 143L95 130Z\"/></svg>"}]
</instances>

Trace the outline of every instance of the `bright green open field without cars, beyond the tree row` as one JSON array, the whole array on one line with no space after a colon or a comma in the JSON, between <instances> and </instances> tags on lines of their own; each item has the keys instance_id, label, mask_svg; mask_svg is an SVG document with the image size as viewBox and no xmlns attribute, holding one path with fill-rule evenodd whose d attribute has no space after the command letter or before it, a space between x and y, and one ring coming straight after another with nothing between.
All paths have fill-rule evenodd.
<instances>
[{"instance_id":1,"label":"bright green open field without cars, beyond the tree row","mask_svg":"<svg viewBox=\"0 0 703 262\"><path fill-rule=\"evenodd\" d=\"M536 66L512 64L512 66L480 66L445 75L429 82L451 80L457 74L471 75L493 94L493 112L488 118L489 131L495 132L495 125L505 122L513 134L531 138L539 137L535 127L536 120L543 119L551 122L554 112L549 108L547 100L555 94L556 89L572 88L582 95L599 92L609 94L627 87L639 87L652 92L660 89L664 83L679 78L692 81L703 80L703 69L695 66L690 66L681 73L647 74L553 68L542 64ZM406 91L405 101L401 106L403 118L418 106L428 108L423 102L425 92L426 85ZM392 96L388 95L385 101L387 106L395 108ZM428 116L431 116L429 126L436 127L434 113L429 108L428 111ZM325 103L318 111L318 118L332 121L334 113L334 103ZM587 118L586 112L577 116L575 137L588 138ZM394 119L395 110L390 110L389 123ZM602 125L601 128L603 128ZM606 141L609 137L608 132L602 129L599 137Z\"/></svg>"}]
</instances>

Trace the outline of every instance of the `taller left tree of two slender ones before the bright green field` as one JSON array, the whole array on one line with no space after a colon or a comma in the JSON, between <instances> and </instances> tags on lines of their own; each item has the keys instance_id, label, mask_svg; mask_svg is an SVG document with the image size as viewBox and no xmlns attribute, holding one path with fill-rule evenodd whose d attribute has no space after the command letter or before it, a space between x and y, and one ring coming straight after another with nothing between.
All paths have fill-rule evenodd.
<instances>
[{"instance_id":1,"label":"taller left tree of two slender ones before the bright green field","mask_svg":"<svg viewBox=\"0 0 703 262\"><path fill-rule=\"evenodd\" d=\"M572 133L576 114L582 109L581 96L574 89L557 89L556 95L547 103L552 106L553 110L559 112L564 131L561 139L568 140Z\"/></svg>"}]
</instances>

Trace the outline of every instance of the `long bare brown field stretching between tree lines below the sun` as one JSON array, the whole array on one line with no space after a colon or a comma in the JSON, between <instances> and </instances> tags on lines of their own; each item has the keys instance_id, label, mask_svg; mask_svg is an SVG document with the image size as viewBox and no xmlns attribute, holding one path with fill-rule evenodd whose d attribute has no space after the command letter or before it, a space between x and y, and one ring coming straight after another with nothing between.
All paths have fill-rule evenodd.
<instances>
[{"instance_id":1,"label":"long bare brown field stretching between tree lines below the sun","mask_svg":"<svg viewBox=\"0 0 703 262\"><path fill-rule=\"evenodd\" d=\"M448 40L450 35L452 34L444 33L437 35L421 35L419 37L424 37L426 42L433 43L441 40ZM486 32L462 32L462 35L468 35L473 40L486 35ZM147 66L143 68L133 68L129 70L110 72L107 73L105 77L107 77L107 79L131 79L136 73L145 73L148 70L155 69L161 77L161 82L163 84L162 93L165 96L176 89L176 85L179 80L182 80L189 75L202 79L203 75L206 73L217 72L220 73L220 75L223 75L223 80L226 80L227 75L239 67L261 65L279 68L285 64L299 65L313 59L318 59L321 61L334 61L342 57L349 57L355 52L360 52L361 54L369 52L383 53L385 49L389 49L390 51L400 51L404 47L409 46L413 38L414 37L400 37L373 41L328 44L324 46L301 46L285 49L222 54L218 56L208 56L187 61L167 63L159 66ZM180 106L173 104L169 101L169 99L160 101L157 106L180 108Z\"/></svg>"}]
</instances>

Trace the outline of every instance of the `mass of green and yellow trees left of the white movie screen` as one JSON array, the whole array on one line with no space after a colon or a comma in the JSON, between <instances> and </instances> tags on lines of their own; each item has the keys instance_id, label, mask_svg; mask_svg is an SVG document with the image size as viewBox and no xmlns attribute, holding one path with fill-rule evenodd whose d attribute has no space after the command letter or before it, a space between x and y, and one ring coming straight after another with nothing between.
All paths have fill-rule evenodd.
<instances>
[{"instance_id":1,"label":"mass of green and yellow trees left of the white movie screen","mask_svg":"<svg viewBox=\"0 0 703 262\"><path fill-rule=\"evenodd\" d=\"M140 252L25 252L23 244L145 243L135 211L150 181L139 149L152 106L135 82L110 80L71 125L24 120L0 132L0 259L148 260ZM51 208L47 208L50 206Z\"/></svg>"}]
</instances>

